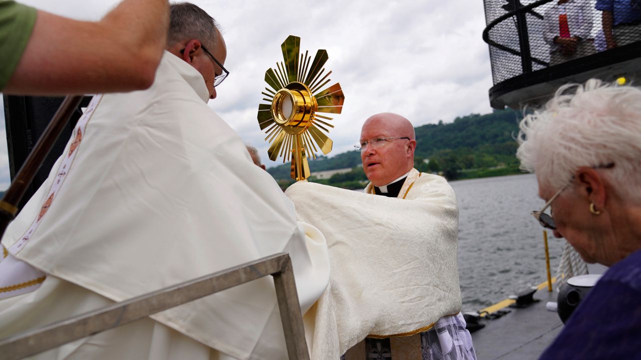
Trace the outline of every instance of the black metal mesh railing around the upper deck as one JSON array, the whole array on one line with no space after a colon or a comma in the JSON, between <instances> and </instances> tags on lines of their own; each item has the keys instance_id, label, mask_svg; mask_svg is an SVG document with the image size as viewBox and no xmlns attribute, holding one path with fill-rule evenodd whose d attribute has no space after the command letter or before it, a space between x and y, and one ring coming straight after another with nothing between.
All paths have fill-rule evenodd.
<instances>
[{"instance_id":1,"label":"black metal mesh railing around the upper deck","mask_svg":"<svg viewBox=\"0 0 641 360\"><path fill-rule=\"evenodd\" d=\"M641 42L641 0L485 0L485 19L494 85Z\"/></svg>"}]
</instances>

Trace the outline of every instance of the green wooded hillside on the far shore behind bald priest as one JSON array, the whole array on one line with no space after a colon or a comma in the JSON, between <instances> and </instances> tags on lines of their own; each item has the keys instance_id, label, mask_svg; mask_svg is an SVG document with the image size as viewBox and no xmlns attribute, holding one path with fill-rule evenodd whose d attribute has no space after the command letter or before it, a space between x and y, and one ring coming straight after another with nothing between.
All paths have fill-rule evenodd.
<instances>
[{"instance_id":1,"label":"green wooded hillside on the far shore behind bald priest","mask_svg":"<svg viewBox=\"0 0 641 360\"><path fill-rule=\"evenodd\" d=\"M520 118L518 111L500 110L486 115L457 117L450 124L441 121L419 126L415 129L415 167L424 172L437 172L450 180L517 174L517 143L513 136L518 132ZM315 180L312 177L310 181L345 188L361 187L365 174L359 152L343 152L333 158L322 156L310 161L312 172L347 167L356 168L330 179ZM267 171L281 185L290 183L289 163Z\"/></svg>"}]
</instances>

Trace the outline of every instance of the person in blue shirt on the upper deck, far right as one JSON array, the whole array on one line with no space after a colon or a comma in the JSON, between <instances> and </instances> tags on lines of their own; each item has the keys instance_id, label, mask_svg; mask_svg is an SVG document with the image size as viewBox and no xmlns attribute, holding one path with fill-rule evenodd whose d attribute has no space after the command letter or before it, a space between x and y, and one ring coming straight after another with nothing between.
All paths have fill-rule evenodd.
<instances>
[{"instance_id":1,"label":"person in blue shirt on the upper deck, far right","mask_svg":"<svg viewBox=\"0 0 641 360\"><path fill-rule=\"evenodd\" d=\"M597 0L608 49L641 41L641 0Z\"/></svg>"}]
</instances>

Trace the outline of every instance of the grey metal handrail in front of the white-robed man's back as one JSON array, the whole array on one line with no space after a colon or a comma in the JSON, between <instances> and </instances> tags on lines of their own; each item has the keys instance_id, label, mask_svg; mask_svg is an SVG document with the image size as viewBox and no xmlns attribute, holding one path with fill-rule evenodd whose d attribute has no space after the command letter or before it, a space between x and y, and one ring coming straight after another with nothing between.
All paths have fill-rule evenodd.
<instances>
[{"instance_id":1,"label":"grey metal handrail in front of the white-robed man's back","mask_svg":"<svg viewBox=\"0 0 641 360\"><path fill-rule=\"evenodd\" d=\"M284 252L6 338L0 341L0 354L3 359L35 355L267 275L274 277L289 358L309 360L292 260Z\"/></svg>"}]
</instances>

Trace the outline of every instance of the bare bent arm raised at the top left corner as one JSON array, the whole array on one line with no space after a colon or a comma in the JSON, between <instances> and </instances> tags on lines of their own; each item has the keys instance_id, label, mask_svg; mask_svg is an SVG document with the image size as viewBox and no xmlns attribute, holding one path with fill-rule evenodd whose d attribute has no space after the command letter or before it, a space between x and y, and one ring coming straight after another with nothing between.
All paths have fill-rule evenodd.
<instances>
[{"instance_id":1,"label":"bare bent arm raised at the top left corner","mask_svg":"<svg viewBox=\"0 0 641 360\"><path fill-rule=\"evenodd\" d=\"M151 86L169 26L167 0L124 0L98 22L38 10L5 94L124 92Z\"/></svg>"}]
</instances>

